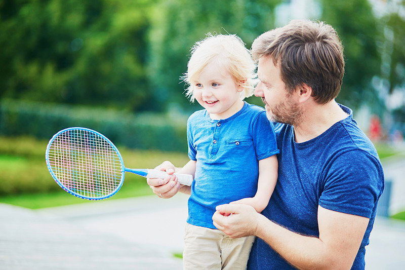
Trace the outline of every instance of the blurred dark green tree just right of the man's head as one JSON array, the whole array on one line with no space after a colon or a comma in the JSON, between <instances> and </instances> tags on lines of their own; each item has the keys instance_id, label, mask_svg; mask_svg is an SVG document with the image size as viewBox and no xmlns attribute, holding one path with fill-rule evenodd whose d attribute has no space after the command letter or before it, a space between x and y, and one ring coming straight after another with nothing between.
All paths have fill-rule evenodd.
<instances>
[{"instance_id":1,"label":"blurred dark green tree just right of the man's head","mask_svg":"<svg viewBox=\"0 0 405 270\"><path fill-rule=\"evenodd\" d=\"M339 102L357 108L363 103L378 103L373 76L380 74L381 55L376 40L377 19L367 0L321 0L320 20L331 24L344 46L345 75Z\"/></svg>"}]
</instances>

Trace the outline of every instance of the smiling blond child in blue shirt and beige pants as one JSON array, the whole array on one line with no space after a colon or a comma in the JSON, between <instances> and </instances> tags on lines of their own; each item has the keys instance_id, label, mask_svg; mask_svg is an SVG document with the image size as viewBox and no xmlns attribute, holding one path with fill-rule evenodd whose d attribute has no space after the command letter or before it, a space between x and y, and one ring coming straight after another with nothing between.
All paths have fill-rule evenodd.
<instances>
[{"instance_id":1,"label":"smiling blond child in blue shirt and beige pants","mask_svg":"<svg viewBox=\"0 0 405 270\"><path fill-rule=\"evenodd\" d=\"M190 161L178 171L194 175L191 187L180 189L191 194L184 269L246 269L254 238L227 237L212 216L225 203L259 213L267 206L277 181L274 130L262 107L243 101L253 94L255 63L239 37L209 35L191 52L186 95L205 109L188 119Z\"/></svg>"}]
</instances>

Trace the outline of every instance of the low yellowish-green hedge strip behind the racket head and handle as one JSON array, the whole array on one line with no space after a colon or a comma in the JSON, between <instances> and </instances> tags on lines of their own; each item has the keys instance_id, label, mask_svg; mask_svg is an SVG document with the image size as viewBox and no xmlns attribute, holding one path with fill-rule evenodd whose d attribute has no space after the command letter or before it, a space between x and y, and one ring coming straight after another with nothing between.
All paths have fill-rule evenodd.
<instances>
[{"instance_id":1,"label":"low yellowish-green hedge strip behind the racket head and handle","mask_svg":"<svg viewBox=\"0 0 405 270\"><path fill-rule=\"evenodd\" d=\"M4 201L7 196L19 194L65 192L55 183L48 171L45 162L47 143L48 140L38 140L30 136L0 136L0 201ZM176 166L183 166L188 161L187 152L134 150L127 147L120 147L119 151L129 168L154 168L164 160L170 160ZM120 196L123 191L127 195L139 193L138 188L145 185L145 181L143 177L127 173Z\"/></svg>"}]
</instances>

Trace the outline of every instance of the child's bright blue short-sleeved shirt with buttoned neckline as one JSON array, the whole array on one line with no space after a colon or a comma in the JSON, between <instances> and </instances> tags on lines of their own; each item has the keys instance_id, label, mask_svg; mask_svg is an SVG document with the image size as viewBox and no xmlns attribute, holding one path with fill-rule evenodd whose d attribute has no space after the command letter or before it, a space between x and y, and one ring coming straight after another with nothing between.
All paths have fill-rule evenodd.
<instances>
[{"instance_id":1,"label":"child's bright blue short-sleeved shirt with buttoned neckline","mask_svg":"<svg viewBox=\"0 0 405 270\"><path fill-rule=\"evenodd\" d=\"M187 121L188 156L196 161L189 224L216 229L215 207L254 197L259 160L279 152L273 124L262 107L244 106L225 120L212 120L207 110L194 112Z\"/></svg>"}]
</instances>

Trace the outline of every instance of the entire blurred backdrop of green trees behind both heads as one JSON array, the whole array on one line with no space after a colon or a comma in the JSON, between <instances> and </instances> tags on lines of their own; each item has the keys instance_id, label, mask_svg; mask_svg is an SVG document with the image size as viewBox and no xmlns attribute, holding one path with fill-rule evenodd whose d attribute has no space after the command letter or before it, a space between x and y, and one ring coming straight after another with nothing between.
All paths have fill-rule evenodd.
<instances>
[{"instance_id":1,"label":"entire blurred backdrop of green trees behind both heads","mask_svg":"<svg viewBox=\"0 0 405 270\"><path fill-rule=\"evenodd\" d=\"M345 47L338 101L383 107L374 79L388 85L387 93L405 87L405 1L382 17L368 0L313 2L320 17L311 19L333 25ZM194 42L208 32L232 33L250 48L256 36L274 28L277 8L288 3L3 0L0 98L189 112L200 107L189 104L179 78Z\"/></svg>"}]
</instances>

